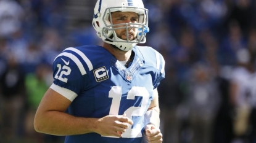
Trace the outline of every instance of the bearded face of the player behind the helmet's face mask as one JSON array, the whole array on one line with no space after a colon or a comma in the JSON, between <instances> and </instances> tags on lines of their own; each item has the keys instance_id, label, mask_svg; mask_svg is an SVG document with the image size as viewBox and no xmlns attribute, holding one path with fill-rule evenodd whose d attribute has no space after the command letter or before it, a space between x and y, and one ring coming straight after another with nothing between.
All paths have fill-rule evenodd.
<instances>
[{"instance_id":1,"label":"bearded face of the player behind the helmet's face mask","mask_svg":"<svg viewBox=\"0 0 256 143\"><path fill-rule=\"evenodd\" d=\"M130 23L130 25L128 26L136 26L133 25L133 23L138 23L139 20L139 16L135 12L112 12L111 16L113 25L117 25L120 23ZM114 28L123 26L125 25L114 26ZM133 41L138 33L138 28L129 28L128 35L126 33L126 28L115 29L115 33L117 34L117 37L119 37L120 39L127 40L128 36L128 39L130 41Z\"/></svg>"}]
</instances>

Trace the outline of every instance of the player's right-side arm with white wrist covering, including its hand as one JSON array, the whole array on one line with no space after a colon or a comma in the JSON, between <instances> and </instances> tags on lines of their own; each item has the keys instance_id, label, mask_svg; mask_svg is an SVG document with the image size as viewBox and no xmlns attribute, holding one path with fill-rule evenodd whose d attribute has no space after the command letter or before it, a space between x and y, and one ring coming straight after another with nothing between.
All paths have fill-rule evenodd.
<instances>
[{"instance_id":1,"label":"player's right-side arm with white wrist covering, including its hand","mask_svg":"<svg viewBox=\"0 0 256 143\"><path fill-rule=\"evenodd\" d=\"M145 135L147 142L149 143L155 143L155 142L162 142L162 133L159 129L160 124L160 109L159 109L159 96L157 89L153 92L154 98L151 102L151 105L149 106L149 109L147 110L146 114L144 115L144 118L146 120L146 127L145 127Z\"/></svg>"}]
</instances>

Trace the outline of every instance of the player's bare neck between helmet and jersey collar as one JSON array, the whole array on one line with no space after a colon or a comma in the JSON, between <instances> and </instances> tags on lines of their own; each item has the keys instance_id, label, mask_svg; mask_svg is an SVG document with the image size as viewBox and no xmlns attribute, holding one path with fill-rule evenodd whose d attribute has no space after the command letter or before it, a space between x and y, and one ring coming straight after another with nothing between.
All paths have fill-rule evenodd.
<instances>
[{"instance_id":1,"label":"player's bare neck between helmet and jersey collar","mask_svg":"<svg viewBox=\"0 0 256 143\"><path fill-rule=\"evenodd\" d=\"M106 43L104 43L103 47L106 48L112 55L114 55L118 61L128 61L130 59L131 50L123 51Z\"/></svg>"}]
</instances>

